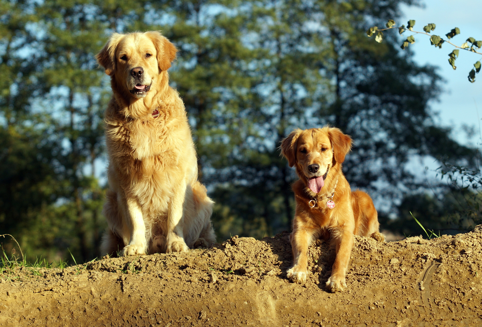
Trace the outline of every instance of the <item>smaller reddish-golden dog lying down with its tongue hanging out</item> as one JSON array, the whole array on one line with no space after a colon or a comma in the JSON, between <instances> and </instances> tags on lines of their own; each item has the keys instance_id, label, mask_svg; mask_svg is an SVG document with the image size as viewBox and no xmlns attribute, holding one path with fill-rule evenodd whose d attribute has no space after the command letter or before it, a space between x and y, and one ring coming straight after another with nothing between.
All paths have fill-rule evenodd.
<instances>
[{"instance_id":1,"label":"smaller reddish-golden dog lying down with its tongue hanging out","mask_svg":"<svg viewBox=\"0 0 482 327\"><path fill-rule=\"evenodd\" d=\"M294 264L289 279L304 283L307 252L317 238L335 243L336 258L327 289L347 287L345 276L353 247L353 235L385 238L378 231L378 215L373 201L362 191L352 192L342 173L351 138L338 128L295 129L281 142L281 153L299 176L293 184L296 212L290 234Z\"/></svg>"}]
</instances>

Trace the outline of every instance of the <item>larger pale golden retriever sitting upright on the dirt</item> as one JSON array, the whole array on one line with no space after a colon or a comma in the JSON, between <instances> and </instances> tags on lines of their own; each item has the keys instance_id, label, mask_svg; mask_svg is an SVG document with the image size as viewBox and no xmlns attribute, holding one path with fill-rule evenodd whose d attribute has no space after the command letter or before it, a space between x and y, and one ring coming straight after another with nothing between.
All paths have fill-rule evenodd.
<instances>
[{"instance_id":1,"label":"larger pale golden retriever sitting upright on the dirt","mask_svg":"<svg viewBox=\"0 0 482 327\"><path fill-rule=\"evenodd\" d=\"M176 48L159 32L114 33L97 54L111 76L105 112L108 228L101 253L187 251L215 241L184 103L169 86Z\"/></svg>"}]
</instances>

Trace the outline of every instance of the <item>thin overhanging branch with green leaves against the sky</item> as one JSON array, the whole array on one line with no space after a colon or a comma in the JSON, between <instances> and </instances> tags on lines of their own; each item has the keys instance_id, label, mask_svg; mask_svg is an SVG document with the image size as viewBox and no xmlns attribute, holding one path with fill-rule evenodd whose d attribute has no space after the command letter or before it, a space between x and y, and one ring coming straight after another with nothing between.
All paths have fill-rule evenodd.
<instances>
[{"instance_id":1,"label":"thin overhanging branch with green leaves against the sky","mask_svg":"<svg viewBox=\"0 0 482 327\"><path fill-rule=\"evenodd\" d=\"M482 41L476 41L475 38L468 38L464 44L462 44L460 47L455 45L454 43L448 41L448 40L445 40L443 38L441 38L440 36L438 35L432 35L430 34L430 32L432 32L433 30L435 30L435 24L431 23L431 24L428 24L428 25L425 25L423 30L425 32L418 32L418 31L414 31L413 27L415 26L415 20L409 20L408 23L407 23L407 26L405 27L405 25L402 25L402 26L395 26L395 21L390 19L387 24L386 24L387 28L384 28L384 29L378 29L377 26L373 26L373 27L370 27L367 31L366 31L366 34L371 37L372 35L374 35L376 33L376 36L375 36L375 41L377 42L381 42L383 40L383 31L386 31L388 29L394 29L394 28L398 28L398 32L400 33L400 35L402 35L403 32L405 31L411 31L411 32L414 32L414 33L417 33L417 34L425 34L425 35L428 35L430 37L430 43L431 45L435 46L435 47L439 47L440 49L442 49L442 44L444 42L447 42L449 44L451 44L452 46L454 46L455 48L457 49L454 49L452 52L449 53L449 63L450 65L452 66L452 68L456 69L457 67L455 66L455 59L457 59L458 57L458 54L459 54L459 49L462 49L462 50L466 50L466 51L470 51L470 52L475 52L475 53L478 53L478 54L482 54L482 52L478 52L477 50L479 50L481 47L482 47ZM455 27L453 28L449 33L445 34L445 36L448 38L448 39L451 39L453 37L455 37L457 34L460 34L460 29L458 27ZM414 44L415 43L415 38L414 38L414 35L410 35L409 37L407 37L402 45L400 46L402 48L402 50L405 50L405 48L408 47L408 44ZM479 73L481 70L481 62L480 61L477 61L476 63L474 63L474 68L472 68L472 70L469 72L469 81L470 83L473 83L475 82L475 74L476 73Z\"/></svg>"}]
</instances>

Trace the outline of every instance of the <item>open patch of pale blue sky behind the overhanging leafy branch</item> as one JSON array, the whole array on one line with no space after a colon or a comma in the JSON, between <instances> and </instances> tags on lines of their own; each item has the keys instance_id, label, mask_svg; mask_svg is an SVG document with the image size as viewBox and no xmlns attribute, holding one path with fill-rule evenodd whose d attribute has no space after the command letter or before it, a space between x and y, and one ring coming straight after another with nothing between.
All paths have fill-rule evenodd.
<instances>
[{"instance_id":1,"label":"open patch of pale blue sky behind the overhanging leafy branch","mask_svg":"<svg viewBox=\"0 0 482 327\"><path fill-rule=\"evenodd\" d=\"M414 30L423 31L423 26L435 23L431 33L446 39L445 34L454 27L460 28L460 34L451 41L460 46L469 37L482 40L481 9L482 0L425 0L424 7L402 6L404 17L397 25L407 25L409 19L416 21ZM410 34L405 32L403 37ZM457 69L448 63L448 54L454 49L445 43L442 49L430 45L425 35L415 35L415 43L410 47L415 52L415 61L419 64L430 63L439 67L438 73L446 80L440 102L432 102L431 107L439 115L436 122L453 128L452 136L463 144L480 143L479 122L482 118L482 72L476 76L475 83L467 79L473 64L482 61L482 55L460 50L456 60ZM481 49L482 50L482 49ZM479 52L482 52L479 50ZM478 110L477 110L478 109ZM478 112L478 114L477 114ZM469 140L466 126L475 126L477 135Z\"/></svg>"}]
</instances>

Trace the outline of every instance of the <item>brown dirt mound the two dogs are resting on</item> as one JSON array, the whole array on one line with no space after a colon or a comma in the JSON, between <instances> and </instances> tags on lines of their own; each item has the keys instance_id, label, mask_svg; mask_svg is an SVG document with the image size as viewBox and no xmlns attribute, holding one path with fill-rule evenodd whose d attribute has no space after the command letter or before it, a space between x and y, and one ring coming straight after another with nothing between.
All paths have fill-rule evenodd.
<instances>
[{"instance_id":1,"label":"brown dirt mound the two dogs are resting on","mask_svg":"<svg viewBox=\"0 0 482 327\"><path fill-rule=\"evenodd\" d=\"M328 293L335 251L308 251L289 282L288 233L213 249L0 274L0 326L482 326L482 226L380 243L355 236L348 289Z\"/></svg>"}]
</instances>

